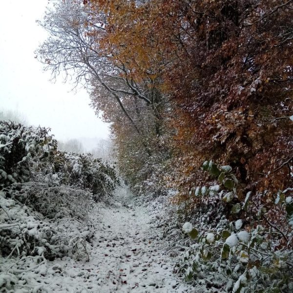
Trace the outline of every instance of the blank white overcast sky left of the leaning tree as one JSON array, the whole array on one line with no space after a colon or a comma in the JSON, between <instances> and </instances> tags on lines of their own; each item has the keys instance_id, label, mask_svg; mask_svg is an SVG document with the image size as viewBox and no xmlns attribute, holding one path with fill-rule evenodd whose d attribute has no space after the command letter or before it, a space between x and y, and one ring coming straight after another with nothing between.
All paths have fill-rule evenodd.
<instances>
[{"instance_id":1,"label":"blank white overcast sky left of the leaning tree","mask_svg":"<svg viewBox=\"0 0 293 293\"><path fill-rule=\"evenodd\" d=\"M23 113L32 125L52 128L60 140L106 138L108 126L95 116L85 90L52 84L34 57L46 32L36 23L48 0L3 0L0 6L0 110Z\"/></svg>"}]
</instances>

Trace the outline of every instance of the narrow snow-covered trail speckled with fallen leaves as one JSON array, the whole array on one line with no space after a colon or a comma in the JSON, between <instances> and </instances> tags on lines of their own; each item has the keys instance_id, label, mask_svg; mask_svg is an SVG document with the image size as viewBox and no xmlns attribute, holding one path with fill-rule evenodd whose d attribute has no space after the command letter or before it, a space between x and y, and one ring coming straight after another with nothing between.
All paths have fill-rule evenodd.
<instances>
[{"instance_id":1,"label":"narrow snow-covered trail speckled with fallen leaves","mask_svg":"<svg viewBox=\"0 0 293 293\"><path fill-rule=\"evenodd\" d=\"M94 237L90 261L71 258L51 264L52 292L191 293L172 273L159 249L163 233L145 207L137 207L127 188L119 188L110 207L92 213ZM49 264L49 263L48 263Z\"/></svg>"}]
</instances>

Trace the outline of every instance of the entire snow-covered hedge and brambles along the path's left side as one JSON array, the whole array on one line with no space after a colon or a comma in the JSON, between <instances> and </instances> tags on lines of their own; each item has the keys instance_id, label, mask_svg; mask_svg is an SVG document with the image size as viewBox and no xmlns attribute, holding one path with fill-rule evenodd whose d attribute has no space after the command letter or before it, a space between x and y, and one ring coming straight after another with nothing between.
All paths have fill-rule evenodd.
<instances>
[{"instance_id":1,"label":"entire snow-covered hedge and brambles along the path's left side","mask_svg":"<svg viewBox=\"0 0 293 293\"><path fill-rule=\"evenodd\" d=\"M26 288L47 260L88 261L88 211L118 183L114 167L58 151L48 131L0 122L0 292Z\"/></svg>"}]
</instances>

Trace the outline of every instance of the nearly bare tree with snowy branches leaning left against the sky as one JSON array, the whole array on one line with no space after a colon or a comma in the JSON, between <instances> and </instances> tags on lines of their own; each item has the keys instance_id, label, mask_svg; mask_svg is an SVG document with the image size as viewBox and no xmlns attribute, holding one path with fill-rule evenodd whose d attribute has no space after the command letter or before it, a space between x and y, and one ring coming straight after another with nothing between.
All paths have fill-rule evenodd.
<instances>
[{"instance_id":1,"label":"nearly bare tree with snowy branches leaning left against the sky","mask_svg":"<svg viewBox=\"0 0 293 293\"><path fill-rule=\"evenodd\" d=\"M76 84L87 87L92 107L112 124L116 149L136 149L127 162L142 166L152 154L166 150L158 146L166 134L168 95L162 95L160 77L151 68L143 78L136 78L129 61L118 58L115 46L107 45L111 23L103 9L97 11L92 5L72 0L57 1L40 22L50 38L37 50L37 56L45 70L51 70L53 79L63 71L65 81L74 77ZM125 140L128 148L121 145ZM119 165L129 169L123 156L120 158ZM133 180L136 176L133 172Z\"/></svg>"}]
</instances>

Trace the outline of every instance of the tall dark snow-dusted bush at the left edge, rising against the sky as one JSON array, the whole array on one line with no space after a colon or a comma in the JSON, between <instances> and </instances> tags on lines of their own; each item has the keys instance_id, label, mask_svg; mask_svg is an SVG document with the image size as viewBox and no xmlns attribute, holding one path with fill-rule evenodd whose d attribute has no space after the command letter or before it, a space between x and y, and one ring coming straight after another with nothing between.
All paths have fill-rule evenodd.
<instances>
[{"instance_id":1,"label":"tall dark snow-dusted bush at the left edge, rising against the sky","mask_svg":"<svg viewBox=\"0 0 293 293\"><path fill-rule=\"evenodd\" d=\"M42 127L0 122L0 186L24 183L34 170L43 169L56 149L56 140Z\"/></svg>"}]
</instances>

